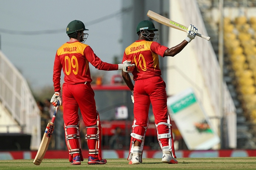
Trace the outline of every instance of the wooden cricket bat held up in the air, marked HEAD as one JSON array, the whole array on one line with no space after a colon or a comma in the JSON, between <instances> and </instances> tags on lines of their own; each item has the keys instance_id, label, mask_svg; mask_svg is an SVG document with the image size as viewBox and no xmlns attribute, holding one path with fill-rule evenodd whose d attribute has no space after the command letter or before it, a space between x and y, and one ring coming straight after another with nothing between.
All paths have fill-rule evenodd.
<instances>
[{"instance_id":1,"label":"wooden cricket bat held up in the air, marked HEAD","mask_svg":"<svg viewBox=\"0 0 256 170\"><path fill-rule=\"evenodd\" d=\"M182 25L178 22L172 21L171 19L165 18L162 15L159 15L159 14L153 12L153 11L149 10L148 13L147 13L147 16L150 17L151 19L154 19L155 21L157 21L159 23L162 23L162 24L166 25L166 26L169 26L171 28L175 28L175 29L187 32L188 27L186 27L186 26L184 26L184 25ZM211 37L201 35L200 33L196 33L196 35L203 38L203 39L206 39L208 41L211 38Z\"/></svg>"}]
</instances>

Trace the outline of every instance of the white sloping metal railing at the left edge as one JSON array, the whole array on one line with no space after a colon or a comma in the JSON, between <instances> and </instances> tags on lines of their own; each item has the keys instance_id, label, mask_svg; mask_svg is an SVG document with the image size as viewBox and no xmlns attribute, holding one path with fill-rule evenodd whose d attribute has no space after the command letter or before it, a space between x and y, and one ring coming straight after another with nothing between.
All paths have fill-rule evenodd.
<instances>
[{"instance_id":1,"label":"white sloping metal railing at the left edge","mask_svg":"<svg viewBox=\"0 0 256 170\"><path fill-rule=\"evenodd\" d=\"M31 134L31 149L41 142L40 112L27 81L0 51L0 101L24 133ZM8 113L6 113L8 114ZM9 122L0 122L10 124ZM7 130L8 131L8 130ZM7 133L4 131L4 133ZM3 133L3 131L1 132Z\"/></svg>"}]
</instances>

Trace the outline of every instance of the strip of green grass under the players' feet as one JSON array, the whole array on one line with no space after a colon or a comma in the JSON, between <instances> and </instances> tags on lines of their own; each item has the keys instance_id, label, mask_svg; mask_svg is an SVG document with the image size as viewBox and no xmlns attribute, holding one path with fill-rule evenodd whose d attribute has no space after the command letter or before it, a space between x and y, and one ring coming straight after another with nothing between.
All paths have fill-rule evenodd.
<instances>
[{"instance_id":1,"label":"strip of green grass under the players' feet","mask_svg":"<svg viewBox=\"0 0 256 170\"><path fill-rule=\"evenodd\" d=\"M143 163L129 165L126 159L107 159L104 165L88 165L87 159L81 165L71 165L67 159L43 159L36 166L33 159L0 160L0 170L256 170L256 157L242 158L178 158L178 164L162 163L161 159L147 158Z\"/></svg>"}]
</instances>

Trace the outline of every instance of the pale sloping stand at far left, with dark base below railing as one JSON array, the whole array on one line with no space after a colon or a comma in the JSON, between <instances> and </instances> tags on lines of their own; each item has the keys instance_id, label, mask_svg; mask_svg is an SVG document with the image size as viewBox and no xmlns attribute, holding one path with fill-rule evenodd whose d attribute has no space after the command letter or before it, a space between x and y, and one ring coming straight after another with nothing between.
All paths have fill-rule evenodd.
<instances>
[{"instance_id":1,"label":"pale sloping stand at far left, with dark base below railing","mask_svg":"<svg viewBox=\"0 0 256 170\"><path fill-rule=\"evenodd\" d=\"M38 149L39 109L27 81L1 50L0 113L0 151Z\"/></svg>"}]
</instances>

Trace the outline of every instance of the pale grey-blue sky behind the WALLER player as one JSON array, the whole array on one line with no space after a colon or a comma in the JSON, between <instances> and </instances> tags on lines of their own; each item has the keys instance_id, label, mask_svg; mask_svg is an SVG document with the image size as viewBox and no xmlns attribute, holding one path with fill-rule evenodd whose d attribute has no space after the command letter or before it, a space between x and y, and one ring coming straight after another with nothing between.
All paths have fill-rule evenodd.
<instances>
[{"instance_id":1,"label":"pale grey-blue sky behind the WALLER player","mask_svg":"<svg viewBox=\"0 0 256 170\"><path fill-rule=\"evenodd\" d=\"M55 54L75 19L89 29L85 44L102 61L122 61L121 8L122 0L0 0L0 50L32 89L53 86Z\"/></svg>"}]
</instances>

